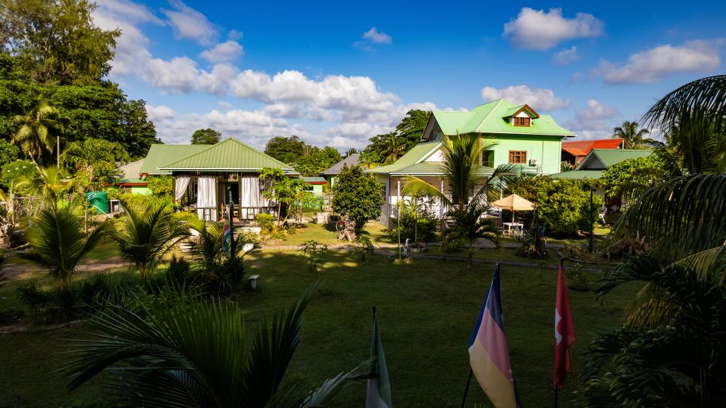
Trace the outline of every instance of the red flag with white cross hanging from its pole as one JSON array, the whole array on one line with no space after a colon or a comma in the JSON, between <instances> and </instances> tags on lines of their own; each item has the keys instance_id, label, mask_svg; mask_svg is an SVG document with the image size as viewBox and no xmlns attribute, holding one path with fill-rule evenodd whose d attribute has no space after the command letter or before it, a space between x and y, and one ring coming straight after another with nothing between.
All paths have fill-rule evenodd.
<instances>
[{"instance_id":1,"label":"red flag with white cross hanging from its pole","mask_svg":"<svg viewBox=\"0 0 726 408\"><path fill-rule=\"evenodd\" d=\"M575 338L575 323L572 320L570 299L567 297L565 274L560 260L555 303L555 389L565 388L565 377L568 372L572 372L570 345L575 342Z\"/></svg>"}]
</instances>

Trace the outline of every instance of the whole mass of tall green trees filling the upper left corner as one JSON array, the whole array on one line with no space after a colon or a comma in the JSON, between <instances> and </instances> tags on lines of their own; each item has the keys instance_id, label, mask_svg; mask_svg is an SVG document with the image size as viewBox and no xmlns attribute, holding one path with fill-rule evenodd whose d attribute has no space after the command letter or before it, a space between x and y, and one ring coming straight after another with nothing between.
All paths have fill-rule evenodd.
<instances>
[{"instance_id":1,"label":"whole mass of tall green trees filling the upper left corner","mask_svg":"<svg viewBox=\"0 0 726 408\"><path fill-rule=\"evenodd\" d=\"M159 142L144 101L127 99L117 84L104 80L120 32L94 25L94 4L3 0L2 6L0 140L14 139L26 125L37 129L42 101L52 113L47 119L60 126L46 126L52 137L43 137L41 149L33 147L33 160L42 155L41 166L55 162L56 136L61 150L72 142L104 139L120 144L131 158L143 157Z\"/></svg>"}]
</instances>

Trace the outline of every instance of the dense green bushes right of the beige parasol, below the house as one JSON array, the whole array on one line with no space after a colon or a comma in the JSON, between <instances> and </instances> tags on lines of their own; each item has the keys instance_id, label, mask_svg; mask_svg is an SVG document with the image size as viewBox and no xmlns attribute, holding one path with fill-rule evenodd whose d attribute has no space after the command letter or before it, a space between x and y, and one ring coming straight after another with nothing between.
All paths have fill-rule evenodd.
<instances>
[{"instance_id":1,"label":"dense green bushes right of the beige parasol, below the house","mask_svg":"<svg viewBox=\"0 0 726 408\"><path fill-rule=\"evenodd\" d=\"M595 217L603 206L602 197L593 195L590 207L590 185L590 182L554 180L547 176L523 176L510 186L510 192L537 205L539 223L547 234L572 235L589 231L590 217Z\"/></svg>"}]
</instances>

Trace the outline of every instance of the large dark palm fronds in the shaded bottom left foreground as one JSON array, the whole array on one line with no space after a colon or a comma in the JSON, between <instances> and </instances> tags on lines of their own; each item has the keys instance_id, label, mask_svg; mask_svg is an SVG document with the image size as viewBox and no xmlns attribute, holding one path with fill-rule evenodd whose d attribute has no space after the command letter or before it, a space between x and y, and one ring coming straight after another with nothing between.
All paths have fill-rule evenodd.
<instances>
[{"instance_id":1,"label":"large dark palm fronds in the shaded bottom left foreground","mask_svg":"<svg viewBox=\"0 0 726 408\"><path fill-rule=\"evenodd\" d=\"M313 391L285 375L316 290L312 285L287 314L261 322L251 346L242 311L232 303L176 296L171 307L144 309L145 318L111 306L89 319L91 340L75 340L73 359L63 367L69 387L109 371L110 391L138 407L327 407L351 380L368 376L372 360Z\"/></svg>"}]
</instances>

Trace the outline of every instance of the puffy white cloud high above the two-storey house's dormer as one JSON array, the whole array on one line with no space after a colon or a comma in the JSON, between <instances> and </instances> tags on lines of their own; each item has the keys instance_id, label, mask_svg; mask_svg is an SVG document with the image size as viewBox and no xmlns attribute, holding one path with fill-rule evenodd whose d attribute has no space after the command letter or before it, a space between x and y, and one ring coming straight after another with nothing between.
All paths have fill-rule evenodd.
<instances>
[{"instance_id":1,"label":"puffy white cloud high above the two-storey house's dormer","mask_svg":"<svg viewBox=\"0 0 726 408\"><path fill-rule=\"evenodd\" d=\"M562 17L562 9L544 10L523 7L515 20L504 25L502 36L521 49L550 49L573 38L602 36L603 22L588 13L574 18Z\"/></svg>"}]
</instances>

